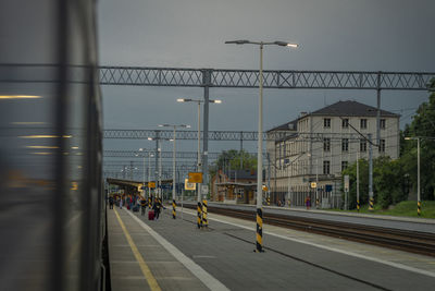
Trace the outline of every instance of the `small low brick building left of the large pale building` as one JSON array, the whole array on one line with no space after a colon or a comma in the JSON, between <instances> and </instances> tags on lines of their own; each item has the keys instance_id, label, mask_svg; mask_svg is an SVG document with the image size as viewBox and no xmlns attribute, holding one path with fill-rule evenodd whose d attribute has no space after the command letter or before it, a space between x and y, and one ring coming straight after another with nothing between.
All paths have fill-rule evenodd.
<instances>
[{"instance_id":1,"label":"small low brick building left of the large pale building","mask_svg":"<svg viewBox=\"0 0 435 291\"><path fill-rule=\"evenodd\" d=\"M219 170L211 181L212 201L254 204L257 172L251 170Z\"/></svg>"}]
</instances>

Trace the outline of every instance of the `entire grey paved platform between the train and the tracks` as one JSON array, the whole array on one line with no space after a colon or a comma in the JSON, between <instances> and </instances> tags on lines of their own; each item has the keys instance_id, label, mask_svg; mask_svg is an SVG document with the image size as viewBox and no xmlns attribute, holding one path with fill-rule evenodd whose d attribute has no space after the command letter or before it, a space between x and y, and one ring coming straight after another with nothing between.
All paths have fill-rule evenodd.
<instances>
[{"instance_id":1,"label":"entire grey paved platform between the train and the tracks","mask_svg":"<svg viewBox=\"0 0 435 291\"><path fill-rule=\"evenodd\" d=\"M147 210L148 211L148 210ZM108 209L112 290L431 290L433 257L264 225L171 209L158 220Z\"/></svg>"}]
</instances>

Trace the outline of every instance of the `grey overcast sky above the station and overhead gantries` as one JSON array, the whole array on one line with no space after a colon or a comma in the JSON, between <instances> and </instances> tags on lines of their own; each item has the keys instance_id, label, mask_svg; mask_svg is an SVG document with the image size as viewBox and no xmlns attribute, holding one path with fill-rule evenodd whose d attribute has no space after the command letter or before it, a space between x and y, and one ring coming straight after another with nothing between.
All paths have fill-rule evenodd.
<instances>
[{"instance_id":1,"label":"grey overcast sky above the station and overhead gantries","mask_svg":"<svg viewBox=\"0 0 435 291\"><path fill-rule=\"evenodd\" d=\"M297 50L266 47L265 70L435 71L434 0L98 2L99 54L105 65L258 70L258 47L224 44L249 39L300 45ZM197 129L194 104L176 98L202 98L200 88L103 86L102 93L105 129L153 130L159 123ZM402 126L427 99L424 92L382 96L382 108L401 114ZM210 106L210 130L257 131L258 89L212 88L210 98L223 100ZM375 106L376 93L265 90L264 130L348 99ZM138 144L109 141L104 146L132 149ZM210 151L219 147L211 143Z\"/></svg>"}]
</instances>

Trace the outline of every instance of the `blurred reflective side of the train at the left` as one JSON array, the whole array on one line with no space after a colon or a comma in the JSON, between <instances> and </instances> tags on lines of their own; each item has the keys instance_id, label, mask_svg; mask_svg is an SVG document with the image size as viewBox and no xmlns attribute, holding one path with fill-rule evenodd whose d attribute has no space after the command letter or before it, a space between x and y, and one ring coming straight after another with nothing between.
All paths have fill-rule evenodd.
<instances>
[{"instance_id":1,"label":"blurred reflective side of the train at the left","mask_svg":"<svg viewBox=\"0 0 435 291\"><path fill-rule=\"evenodd\" d=\"M2 290L103 287L95 25L92 0L1 2Z\"/></svg>"}]
</instances>

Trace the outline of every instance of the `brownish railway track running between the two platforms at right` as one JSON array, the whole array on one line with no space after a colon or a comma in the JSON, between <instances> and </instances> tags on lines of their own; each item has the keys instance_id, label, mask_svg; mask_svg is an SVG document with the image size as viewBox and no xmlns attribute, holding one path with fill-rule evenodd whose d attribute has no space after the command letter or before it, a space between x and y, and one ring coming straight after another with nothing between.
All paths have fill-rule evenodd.
<instances>
[{"instance_id":1,"label":"brownish railway track running between the two platforms at right","mask_svg":"<svg viewBox=\"0 0 435 291\"><path fill-rule=\"evenodd\" d=\"M185 207L196 209L196 205L185 205ZM254 210L229 209L213 206L209 206L208 210L209 213L251 221L256 219ZM263 214L264 223L272 226L435 256L435 234L433 233L271 214L266 210L263 210Z\"/></svg>"}]
</instances>

